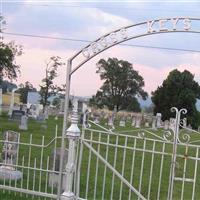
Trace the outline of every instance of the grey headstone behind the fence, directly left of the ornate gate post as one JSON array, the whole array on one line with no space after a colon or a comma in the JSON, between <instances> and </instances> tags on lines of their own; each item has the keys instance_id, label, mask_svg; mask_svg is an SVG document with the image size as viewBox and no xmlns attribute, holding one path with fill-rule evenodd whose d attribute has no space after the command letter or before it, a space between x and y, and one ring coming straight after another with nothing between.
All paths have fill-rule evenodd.
<instances>
[{"instance_id":1,"label":"grey headstone behind the fence, directly left of the ornate gate post","mask_svg":"<svg viewBox=\"0 0 200 200\"><path fill-rule=\"evenodd\" d=\"M49 186L50 187L57 187L59 184L59 170L60 170L60 155L61 149L54 149L51 155L50 159L50 169L51 172L49 173ZM64 167L67 164L67 157L68 157L68 151L65 150L64 156L63 156L63 170ZM62 183L62 189L64 190L66 187L66 175L63 177L63 183Z\"/></svg>"}]
</instances>

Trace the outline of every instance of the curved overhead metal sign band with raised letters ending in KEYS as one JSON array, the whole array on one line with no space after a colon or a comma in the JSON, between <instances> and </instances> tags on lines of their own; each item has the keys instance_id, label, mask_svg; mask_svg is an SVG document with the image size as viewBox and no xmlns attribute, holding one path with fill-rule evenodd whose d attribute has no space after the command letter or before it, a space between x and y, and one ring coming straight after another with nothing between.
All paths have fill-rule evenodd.
<instances>
[{"instance_id":1,"label":"curved overhead metal sign band with raised letters ending in KEYS","mask_svg":"<svg viewBox=\"0 0 200 200\"><path fill-rule=\"evenodd\" d=\"M122 27L105 34L94 42L81 49L72 58L70 65L75 67L70 72L73 74L87 61L97 54L122 42L160 33L189 32L200 33L200 18L174 17L140 22L130 26ZM195 27L195 28L194 28ZM76 62L78 60L78 62Z\"/></svg>"}]
</instances>

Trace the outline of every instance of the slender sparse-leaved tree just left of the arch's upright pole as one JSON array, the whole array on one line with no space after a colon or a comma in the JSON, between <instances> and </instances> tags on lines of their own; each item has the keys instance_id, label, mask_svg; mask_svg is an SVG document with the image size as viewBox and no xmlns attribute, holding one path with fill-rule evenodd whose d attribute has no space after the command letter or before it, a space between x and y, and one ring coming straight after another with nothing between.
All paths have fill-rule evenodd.
<instances>
[{"instance_id":1,"label":"slender sparse-leaved tree just left of the arch's upright pole","mask_svg":"<svg viewBox=\"0 0 200 200\"><path fill-rule=\"evenodd\" d=\"M58 56L52 56L48 62L46 62L45 78L42 79L42 85L40 85L41 104L43 105L43 111L49 104L48 98L56 93L57 86L54 85L53 80L58 76L57 69L59 66L64 65L61 58Z\"/></svg>"}]
</instances>

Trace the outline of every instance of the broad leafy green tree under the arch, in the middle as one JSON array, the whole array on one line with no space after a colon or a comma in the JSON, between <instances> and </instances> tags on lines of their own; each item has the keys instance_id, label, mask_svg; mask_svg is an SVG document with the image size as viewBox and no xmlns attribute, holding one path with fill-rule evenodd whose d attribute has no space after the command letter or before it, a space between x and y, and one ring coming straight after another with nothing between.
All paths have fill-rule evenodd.
<instances>
[{"instance_id":1,"label":"broad leafy green tree under the arch, in the middle","mask_svg":"<svg viewBox=\"0 0 200 200\"><path fill-rule=\"evenodd\" d=\"M147 93L142 89L144 80L128 61L117 58L101 59L97 63L96 73L100 74L103 85L90 104L98 107L107 106L113 110L139 111L140 105L136 96L146 99Z\"/></svg>"}]
</instances>

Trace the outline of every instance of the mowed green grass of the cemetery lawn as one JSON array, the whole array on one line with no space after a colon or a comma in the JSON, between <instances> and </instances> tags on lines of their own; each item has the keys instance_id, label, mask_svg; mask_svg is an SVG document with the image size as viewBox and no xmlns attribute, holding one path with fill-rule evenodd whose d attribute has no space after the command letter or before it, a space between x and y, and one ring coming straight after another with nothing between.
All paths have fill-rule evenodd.
<instances>
[{"instance_id":1,"label":"mowed green grass of the cemetery lawn","mask_svg":"<svg viewBox=\"0 0 200 200\"><path fill-rule=\"evenodd\" d=\"M42 144L42 137L45 137L45 144L48 144L55 135L55 126L58 125L58 136L62 132L62 118L55 121L50 117L46 121L47 128L44 124L35 120L29 120L28 131L18 129L17 122L11 122L6 115L1 117L1 133L5 130L15 130L21 133L20 141L30 143L30 134L32 134L34 144ZM104 127L105 121L102 122ZM95 130L100 130L99 127L92 126ZM108 127L107 127L108 128ZM133 130L132 132L129 132ZM116 127L116 131L123 131L121 134L112 135L100 133L97 131L85 131L84 141L92 146L94 151L99 153L101 157L113 166L133 187L138 190L145 198L149 199L167 199L170 164L172 156L172 143L155 142L152 135L145 133L144 138L138 137L138 131L135 131L131 124L126 127ZM141 131L144 132L144 131ZM155 132L162 136L162 130ZM124 137L126 134L130 137ZM133 137L132 137L133 136ZM1 135L2 138L2 135ZM150 138L150 139L145 139ZM195 136L198 138L198 135ZM101 143L101 144L100 144ZM60 140L57 140L57 147L60 146ZM30 146L20 145L19 163L24 166L36 166L37 168L50 169L50 157L55 147L55 141L48 147L42 149L39 147L31 147L31 158L29 159ZM81 145L79 145L79 149ZM137 195L130 190L128 186L123 184L118 176L114 175L113 171L106 167L103 161L94 154L86 145L82 146L83 157L80 171L80 197L86 199L137 199ZM145 151L143 151L145 149ZM41 158L41 153L43 157ZM196 187L195 199L200 198L200 174L199 161L193 159L199 157L199 149L197 147L186 147L178 145L177 148L177 164L176 177L193 179L196 167ZM185 155L187 153L187 155ZM49 157L49 158L48 158ZM48 165L49 159L49 165ZM30 160L30 162L29 162ZM12 181L8 185L22 187L30 190L48 191L49 193L56 191L49 187L48 173L36 170L19 169L23 172L23 185L21 181ZM89 173L89 175L88 175ZM34 184L35 183L35 184ZM1 182L1 184L3 184ZM41 185L41 188L39 188ZM46 187L47 185L47 187ZM184 187L184 188L183 188ZM182 191L184 191L182 193ZM193 192L193 183L174 181L173 199L191 199ZM0 199L38 199L36 196L20 194L0 190ZM40 197L40 199L44 199Z\"/></svg>"}]
</instances>

